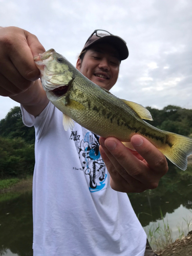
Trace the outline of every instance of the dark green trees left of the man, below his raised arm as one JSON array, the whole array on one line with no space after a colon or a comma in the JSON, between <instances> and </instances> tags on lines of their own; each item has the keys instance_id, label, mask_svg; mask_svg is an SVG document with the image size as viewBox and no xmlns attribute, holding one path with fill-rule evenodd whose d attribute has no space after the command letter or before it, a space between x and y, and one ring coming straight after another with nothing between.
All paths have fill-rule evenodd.
<instances>
[{"instance_id":1,"label":"dark green trees left of the man, below his raised arm","mask_svg":"<svg viewBox=\"0 0 192 256\"><path fill-rule=\"evenodd\" d=\"M19 106L0 121L0 179L26 177L34 168L34 127L22 121Z\"/></svg>"}]
</instances>

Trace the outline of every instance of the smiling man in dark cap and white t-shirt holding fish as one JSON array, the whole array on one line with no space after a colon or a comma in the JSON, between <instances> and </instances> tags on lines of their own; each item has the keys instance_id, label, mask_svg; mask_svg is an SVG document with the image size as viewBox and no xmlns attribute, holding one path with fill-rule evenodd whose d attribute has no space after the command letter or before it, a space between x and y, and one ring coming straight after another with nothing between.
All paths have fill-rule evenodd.
<instances>
[{"instance_id":1,"label":"smiling man in dark cap and white t-shirt holding fish","mask_svg":"<svg viewBox=\"0 0 192 256\"><path fill-rule=\"evenodd\" d=\"M78 123L65 132L62 113L47 99L33 61L44 51L27 31L0 29L0 94L21 103L24 123L36 133L34 256L155 255L125 193L157 187L167 172L165 157L139 135L131 139L132 152ZM120 37L94 31L76 68L110 90L128 54Z\"/></svg>"}]
</instances>

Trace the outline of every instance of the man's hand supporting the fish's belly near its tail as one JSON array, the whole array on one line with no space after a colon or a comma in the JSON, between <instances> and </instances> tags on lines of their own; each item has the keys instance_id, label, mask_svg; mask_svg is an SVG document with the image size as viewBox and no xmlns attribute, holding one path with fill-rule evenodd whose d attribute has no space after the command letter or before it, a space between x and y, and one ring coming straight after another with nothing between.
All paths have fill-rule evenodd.
<instances>
[{"instance_id":1,"label":"man's hand supporting the fish's belly near its tail","mask_svg":"<svg viewBox=\"0 0 192 256\"><path fill-rule=\"evenodd\" d=\"M99 138L100 154L110 173L114 190L130 193L156 188L168 171L164 155L147 139L134 135L131 143L136 151L116 138Z\"/></svg>"}]
</instances>

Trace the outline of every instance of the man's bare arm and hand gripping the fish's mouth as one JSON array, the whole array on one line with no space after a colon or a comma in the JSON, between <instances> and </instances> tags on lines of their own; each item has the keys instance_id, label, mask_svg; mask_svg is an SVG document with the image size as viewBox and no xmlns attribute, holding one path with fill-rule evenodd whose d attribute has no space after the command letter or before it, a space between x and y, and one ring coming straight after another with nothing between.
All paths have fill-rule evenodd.
<instances>
[{"instance_id":1,"label":"man's bare arm and hand gripping the fish's mouth","mask_svg":"<svg viewBox=\"0 0 192 256\"><path fill-rule=\"evenodd\" d=\"M34 116L49 102L33 60L42 52L35 35L17 27L0 28L0 95L23 104Z\"/></svg>"}]
</instances>

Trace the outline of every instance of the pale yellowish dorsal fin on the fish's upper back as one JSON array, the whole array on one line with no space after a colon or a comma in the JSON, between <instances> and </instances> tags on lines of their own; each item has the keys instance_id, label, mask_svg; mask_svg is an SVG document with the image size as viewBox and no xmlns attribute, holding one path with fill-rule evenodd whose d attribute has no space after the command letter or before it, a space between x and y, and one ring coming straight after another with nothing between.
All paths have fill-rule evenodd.
<instances>
[{"instance_id":1,"label":"pale yellowish dorsal fin on the fish's upper back","mask_svg":"<svg viewBox=\"0 0 192 256\"><path fill-rule=\"evenodd\" d=\"M134 110L140 118L153 121L151 113L147 109L145 109L144 106L137 104L133 101L128 101L125 99L121 99L121 100L126 105L128 105L132 110Z\"/></svg>"}]
</instances>

